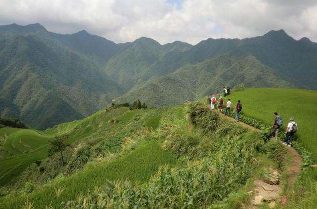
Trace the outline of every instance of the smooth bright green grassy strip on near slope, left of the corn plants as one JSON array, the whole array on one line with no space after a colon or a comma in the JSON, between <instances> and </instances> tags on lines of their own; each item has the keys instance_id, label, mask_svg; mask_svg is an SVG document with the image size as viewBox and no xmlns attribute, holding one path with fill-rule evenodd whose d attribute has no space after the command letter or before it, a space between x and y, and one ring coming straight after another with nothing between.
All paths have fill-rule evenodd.
<instances>
[{"instance_id":1,"label":"smooth bright green grassy strip on near slope, left of the corn plants","mask_svg":"<svg viewBox=\"0 0 317 209\"><path fill-rule=\"evenodd\" d=\"M95 187L107 183L107 180L131 180L144 182L165 164L175 164L176 156L163 150L158 141L143 142L136 150L119 159L87 166L70 178L61 178L36 190L29 196L35 208L44 208L52 201L67 201L79 194L86 194ZM54 188L64 188L57 197ZM50 197L50 198L48 198ZM5 200L0 208L19 208L25 202L25 196L14 200ZM55 207L61 207L57 205Z\"/></svg>"}]
</instances>

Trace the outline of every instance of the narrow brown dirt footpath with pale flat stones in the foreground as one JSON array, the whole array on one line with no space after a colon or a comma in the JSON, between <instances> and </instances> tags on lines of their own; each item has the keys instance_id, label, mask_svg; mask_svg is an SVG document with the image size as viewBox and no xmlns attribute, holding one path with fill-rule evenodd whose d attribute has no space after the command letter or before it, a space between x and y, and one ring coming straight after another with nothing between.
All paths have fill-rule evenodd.
<instances>
[{"instance_id":1,"label":"narrow brown dirt footpath with pale flat stones in the foreground","mask_svg":"<svg viewBox=\"0 0 317 209\"><path fill-rule=\"evenodd\" d=\"M226 120L236 122L236 120L230 116L226 116L217 110L211 110L222 118ZM250 131L260 132L260 129L257 129L253 126L245 124L241 121L236 122L239 126L243 128L247 128ZM271 138L271 140L276 140L275 138ZM292 157L291 163L285 169L285 173L287 176L287 183L289 185L294 185L296 179L299 176L299 173L302 169L302 156L293 148L285 146L288 155ZM282 205L286 205L288 199L286 196L281 196L282 188L280 185L280 171L272 168L268 168L270 171L269 178L266 180L257 179L254 181L254 190L249 191L249 194L254 194L254 198L251 200L251 205L248 207L250 209L257 209L258 206L262 205L264 202L268 203L270 208L274 208L276 205L276 201L280 201Z\"/></svg>"}]
</instances>

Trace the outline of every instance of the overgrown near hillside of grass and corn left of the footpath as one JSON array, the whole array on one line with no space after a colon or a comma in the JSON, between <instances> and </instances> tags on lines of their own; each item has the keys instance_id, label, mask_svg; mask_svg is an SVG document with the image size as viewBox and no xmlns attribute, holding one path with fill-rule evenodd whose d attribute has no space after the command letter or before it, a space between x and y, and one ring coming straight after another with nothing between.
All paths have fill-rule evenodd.
<instances>
[{"instance_id":1,"label":"overgrown near hillside of grass and corn left of the footpath","mask_svg":"<svg viewBox=\"0 0 317 209\"><path fill-rule=\"evenodd\" d=\"M0 197L0 208L241 207L250 198L250 179L260 175L254 167L275 166L264 155L264 133L241 128L197 102L110 108L44 134L68 136L66 165L58 155L30 165L6 185L9 194Z\"/></svg>"}]
</instances>

